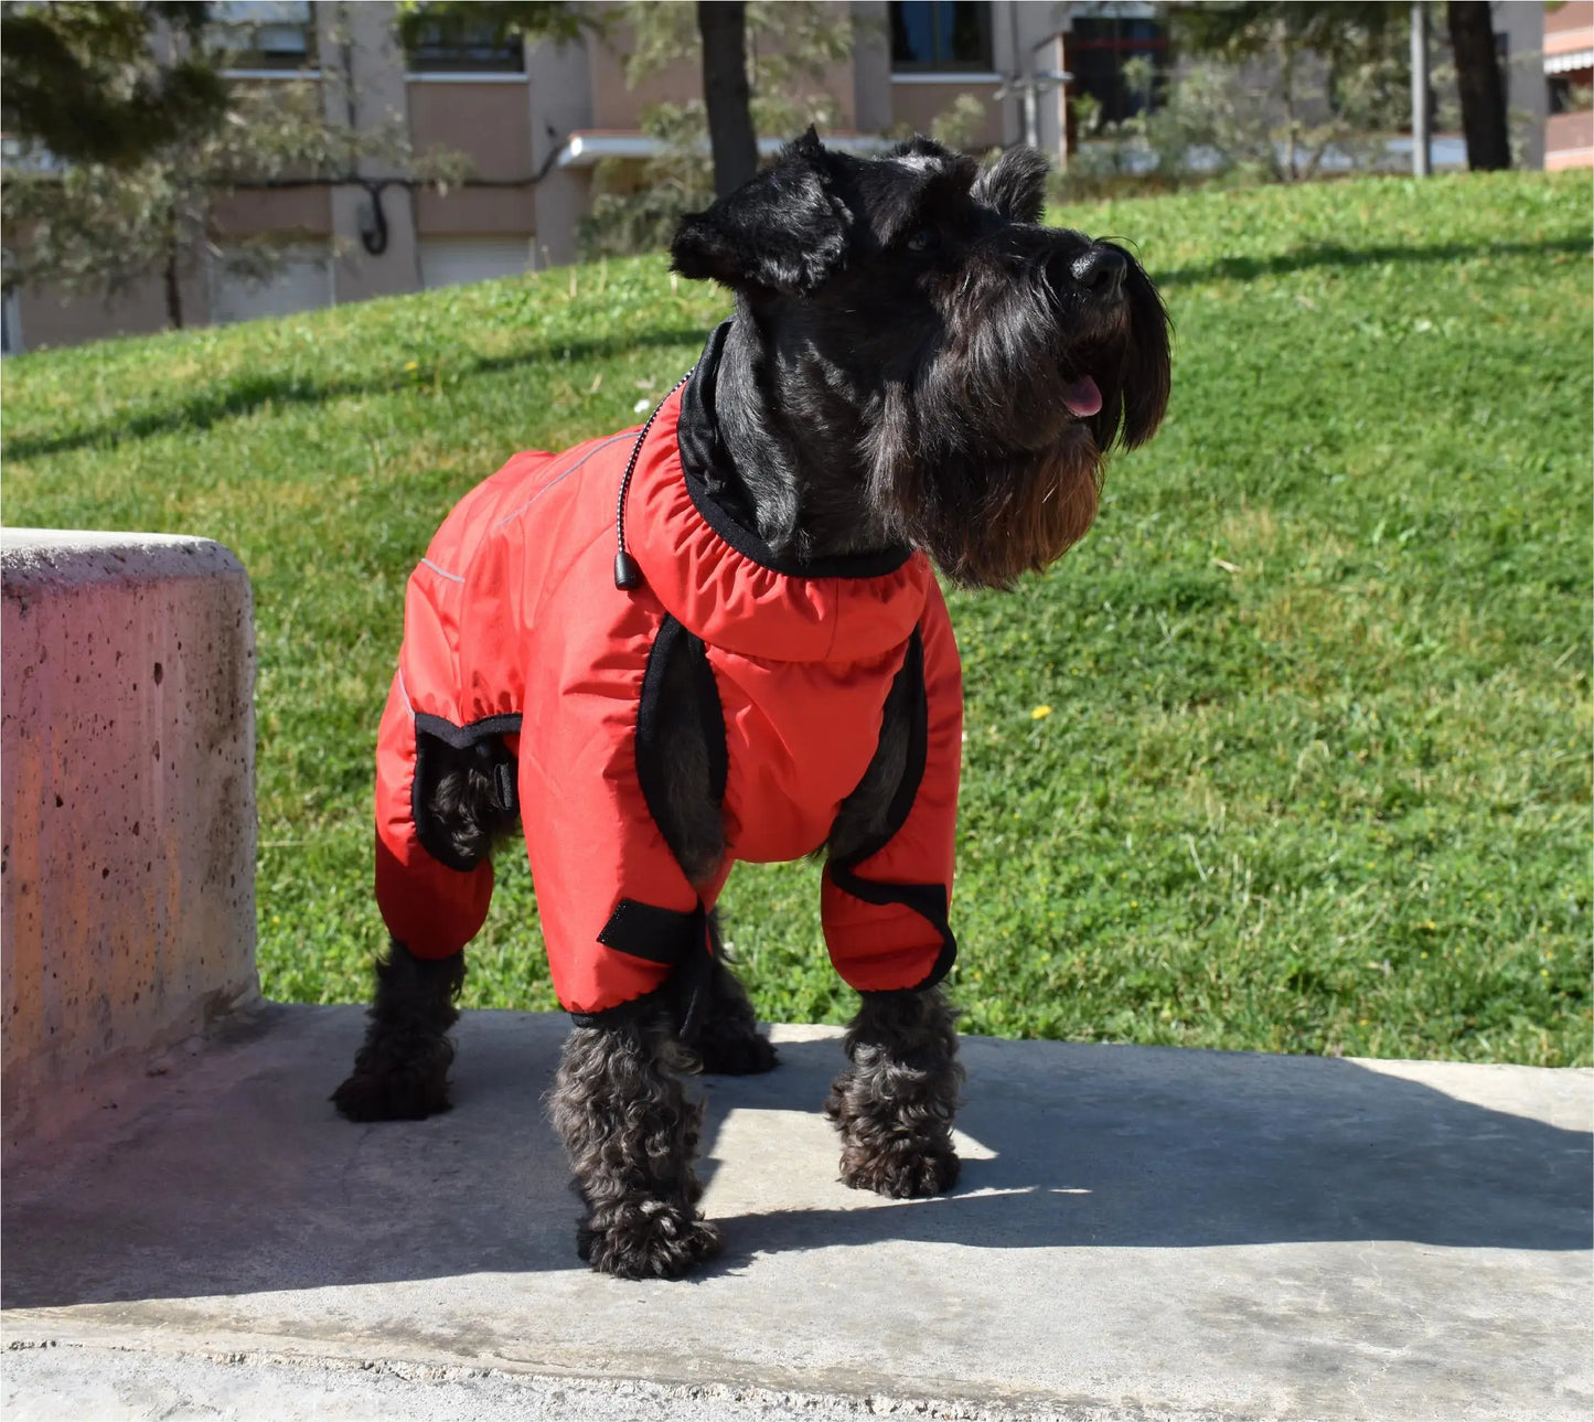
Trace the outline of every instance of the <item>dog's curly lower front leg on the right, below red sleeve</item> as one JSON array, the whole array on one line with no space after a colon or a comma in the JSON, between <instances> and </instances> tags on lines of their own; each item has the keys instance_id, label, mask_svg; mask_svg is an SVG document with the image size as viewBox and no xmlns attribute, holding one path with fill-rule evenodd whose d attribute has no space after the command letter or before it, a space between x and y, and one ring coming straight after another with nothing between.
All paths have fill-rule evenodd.
<instances>
[{"instance_id":1,"label":"dog's curly lower front leg on the right, below red sleeve","mask_svg":"<svg viewBox=\"0 0 1594 1422\"><path fill-rule=\"evenodd\" d=\"M958 1014L939 988L866 993L846 1028L851 1065L824 1114L842 1132L842 1181L909 1199L958 1183L952 1118L958 1110Z\"/></svg>"}]
</instances>

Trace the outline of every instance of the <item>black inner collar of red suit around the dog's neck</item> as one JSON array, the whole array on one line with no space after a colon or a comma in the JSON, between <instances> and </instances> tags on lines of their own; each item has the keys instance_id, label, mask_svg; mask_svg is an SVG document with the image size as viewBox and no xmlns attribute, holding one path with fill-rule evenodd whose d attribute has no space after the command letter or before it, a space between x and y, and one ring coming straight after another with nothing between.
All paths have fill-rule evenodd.
<instances>
[{"instance_id":1,"label":"black inner collar of red suit around the dog's neck","mask_svg":"<svg viewBox=\"0 0 1594 1422\"><path fill-rule=\"evenodd\" d=\"M703 521L714 529L743 558L751 558L760 568L786 577L883 577L896 572L913 550L902 544L878 553L845 553L835 558L787 558L776 553L759 537L757 531L743 523L732 507L741 504L741 513L752 517L740 497L741 478L732 464L730 451L719 437L719 421L714 418L714 387L719 378L719 360L725 351L725 336L732 322L724 320L708 338L703 356L681 392L681 421L676 426L676 443L681 450L681 469L685 472L687 493Z\"/></svg>"}]
</instances>

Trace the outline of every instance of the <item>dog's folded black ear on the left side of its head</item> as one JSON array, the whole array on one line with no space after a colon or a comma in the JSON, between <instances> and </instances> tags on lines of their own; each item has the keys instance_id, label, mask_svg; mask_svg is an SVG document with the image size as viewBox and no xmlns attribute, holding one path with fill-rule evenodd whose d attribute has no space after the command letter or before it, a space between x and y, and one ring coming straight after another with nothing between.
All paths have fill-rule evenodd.
<instances>
[{"instance_id":1,"label":"dog's folded black ear on the left side of its head","mask_svg":"<svg viewBox=\"0 0 1594 1422\"><path fill-rule=\"evenodd\" d=\"M813 292L842 265L851 225L832 191L827 159L810 128L773 167L681 220L669 244L671 268L732 290Z\"/></svg>"}]
</instances>

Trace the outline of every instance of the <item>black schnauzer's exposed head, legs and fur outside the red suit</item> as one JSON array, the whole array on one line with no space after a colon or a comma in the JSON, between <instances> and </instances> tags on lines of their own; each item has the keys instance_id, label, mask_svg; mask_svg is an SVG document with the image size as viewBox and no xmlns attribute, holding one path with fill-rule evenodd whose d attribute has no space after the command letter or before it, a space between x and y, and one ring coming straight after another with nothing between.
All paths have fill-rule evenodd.
<instances>
[{"instance_id":1,"label":"black schnauzer's exposed head, legs and fur outside the red suit","mask_svg":"<svg viewBox=\"0 0 1594 1422\"><path fill-rule=\"evenodd\" d=\"M711 343L717 373L703 416L717 450L706 485L716 528L733 524L799 574L918 550L972 588L1007 588L1084 536L1108 451L1148 440L1167 408L1168 322L1129 252L1041 225L1044 177L1030 148L985 169L926 139L859 159L810 131L682 222L674 269L735 293L735 316ZM622 587L636 575L626 563L622 529ZM658 673L647 807L685 878L717 893L727 819L709 722L719 708L703 714L692 641L679 639ZM923 757L910 679L897 674L877 705L878 740L870 732L867 768L823 845L832 866L859 862L901 821L896 802ZM515 827L518 744L445 737L424 775L416 760L416 805L456 869L483 862ZM529 843L529 797L526 807ZM775 1065L717 952L713 915L700 923L709 949L700 972L676 972L630 1011L577 1014L552 1094L585 1202L580 1255L620 1277L677 1277L719 1248L697 1208L701 1108L682 1074ZM464 950L427 958L400 937L394 928L365 1043L333 1097L355 1121L448 1110ZM909 1197L956 1181L953 1023L939 987L862 993L848 1065L826 1102L846 1184Z\"/></svg>"}]
</instances>

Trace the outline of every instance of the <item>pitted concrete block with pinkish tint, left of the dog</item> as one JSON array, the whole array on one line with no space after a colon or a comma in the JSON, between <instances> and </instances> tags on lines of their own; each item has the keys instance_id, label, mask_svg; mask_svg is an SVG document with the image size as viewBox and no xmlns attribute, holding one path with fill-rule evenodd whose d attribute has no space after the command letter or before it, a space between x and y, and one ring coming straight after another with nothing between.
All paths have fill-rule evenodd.
<instances>
[{"instance_id":1,"label":"pitted concrete block with pinkish tint, left of the dog","mask_svg":"<svg viewBox=\"0 0 1594 1422\"><path fill-rule=\"evenodd\" d=\"M14 1140L258 993L253 622L206 539L5 529L0 571Z\"/></svg>"}]
</instances>

